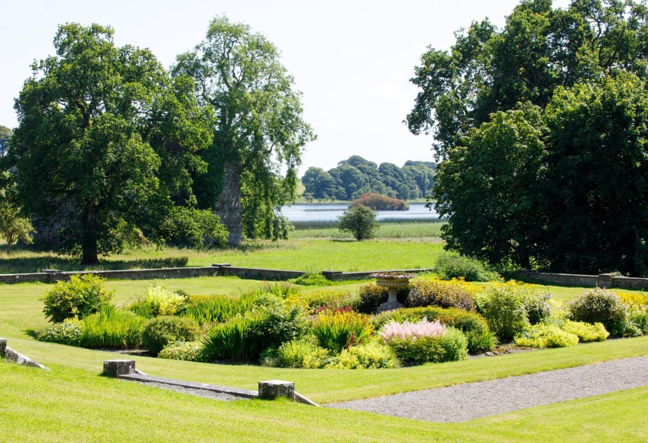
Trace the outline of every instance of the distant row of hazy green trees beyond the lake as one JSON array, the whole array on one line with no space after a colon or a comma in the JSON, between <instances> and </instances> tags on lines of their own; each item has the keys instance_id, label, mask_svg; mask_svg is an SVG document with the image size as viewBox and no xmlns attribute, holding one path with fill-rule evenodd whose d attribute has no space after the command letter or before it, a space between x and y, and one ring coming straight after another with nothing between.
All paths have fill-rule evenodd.
<instances>
[{"instance_id":1,"label":"distant row of hazy green trees beyond the lake","mask_svg":"<svg viewBox=\"0 0 648 443\"><path fill-rule=\"evenodd\" d=\"M366 192L400 199L425 197L430 193L436 163L408 160L399 168L393 163L376 165L352 155L328 172L311 166L301 178L305 198L356 199Z\"/></svg>"}]
</instances>

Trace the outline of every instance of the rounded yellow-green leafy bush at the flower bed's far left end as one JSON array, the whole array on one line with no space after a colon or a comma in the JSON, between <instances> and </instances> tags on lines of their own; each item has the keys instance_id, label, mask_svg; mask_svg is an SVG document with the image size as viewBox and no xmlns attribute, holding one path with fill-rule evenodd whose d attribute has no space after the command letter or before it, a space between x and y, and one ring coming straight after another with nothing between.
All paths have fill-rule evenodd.
<instances>
[{"instance_id":1,"label":"rounded yellow-green leafy bush at the flower bed's far left end","mask_svg":"<svg viewBox=\"0 0 648 443\"><path fill-rule=\"evenodd\" d=\"M104 288L103 278L86 274L73 275L68 282L58 282L41 298L43 312L49 321L60 323L65 319L82 319L98 312L102 304L110 302L112 291Z\"/></svg>"}]
</instances>

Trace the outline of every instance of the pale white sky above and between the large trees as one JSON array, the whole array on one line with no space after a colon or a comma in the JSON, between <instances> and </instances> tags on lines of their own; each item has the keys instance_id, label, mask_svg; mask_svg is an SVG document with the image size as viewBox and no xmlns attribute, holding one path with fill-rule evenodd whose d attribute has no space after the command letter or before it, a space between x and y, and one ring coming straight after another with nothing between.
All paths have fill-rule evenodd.
<instances>
[{"instance_id":1,"label":"pale white sky above and between the large trees","mask_svg":"<svg viewBox=\"0 0 648 443\"><path fill-rule=\"evenodd\" d=\"M517 0L400 1L76 1L23 0L3 4L0 26L0 124L17 126L14 98L30 64L54 52L60 23L115 28L115 43L148 47L169 67L203 40L210 19L226 15L279 47L303 93L305 119L318 139L306 146L308 166L326 170L351 155L402 166L432 161L430 135L403 123L417 88L410 84L428 46L448 49L454 31L489 17L503 25ZM556 0L566 6L568 0Z\"/></svg>"}]
</instances>

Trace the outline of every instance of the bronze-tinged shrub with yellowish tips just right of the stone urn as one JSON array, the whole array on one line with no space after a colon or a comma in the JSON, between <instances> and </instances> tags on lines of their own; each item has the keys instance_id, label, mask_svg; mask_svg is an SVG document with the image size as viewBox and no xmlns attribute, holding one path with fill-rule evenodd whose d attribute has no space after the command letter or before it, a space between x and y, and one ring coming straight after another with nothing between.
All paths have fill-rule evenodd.
<instances>
[{"instance_id":1,"label":"bronze-tinged shrub with yellowish tips just right of the stone urn","mask_svg":"<svg viewBox=\"0 0 648 443\"><path fill-rule=\"evenodd\" d=\"M405 306L441 306L441 308L461 308L475 310L472 285L463 280L441 280L431 278L413 282Z\"/></svg>"}]
</instances>

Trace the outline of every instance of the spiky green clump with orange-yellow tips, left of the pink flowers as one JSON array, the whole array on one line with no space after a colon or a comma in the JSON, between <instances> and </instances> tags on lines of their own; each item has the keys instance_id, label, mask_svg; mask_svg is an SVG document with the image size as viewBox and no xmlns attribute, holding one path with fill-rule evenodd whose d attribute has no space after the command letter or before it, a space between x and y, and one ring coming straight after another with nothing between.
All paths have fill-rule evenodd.
<instances>
[{"instance_id":1,"label":"spiky green clump with orange-yellow tips, left of the pink flowers","mask_svg":"<svg viewBox=\"0 0 648 443\"><path fill-rule=\"evenodd\" d=\"M319 312L311 328L319 345L336 353L347 346L364 343L372 332L373 325L367 315L344 310Z\"/></svg>"}]
</instances>

